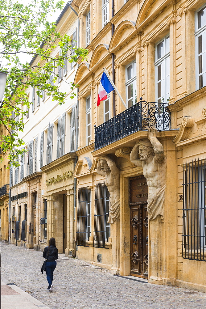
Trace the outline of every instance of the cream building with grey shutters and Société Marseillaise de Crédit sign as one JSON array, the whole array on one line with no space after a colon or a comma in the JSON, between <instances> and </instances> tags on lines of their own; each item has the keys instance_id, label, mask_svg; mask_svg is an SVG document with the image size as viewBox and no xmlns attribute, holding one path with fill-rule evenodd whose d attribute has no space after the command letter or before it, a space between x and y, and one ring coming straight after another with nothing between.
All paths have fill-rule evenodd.
<instances>
[{"instance_id":1,"label":"cream building with grey shutters and Soci\u00e9t\u00e9 Marseillaise de Cr\u00e9dit sign","mask_svg":"<svg viewBox=\"0 0 206 309\"><path fill-rule=\"evenodd\" d=\"M74 46L79 44L78 28L77 13L68 2L57 19L57 31L70 36ZM58 46L51 56L59 53ZM31 63L38 61L33 58ZM66 60L64 67L55 70L61 75L56 86L67 93L65 104L52 101L46 93L40 98L35 88L28 89L31 108L24 119L24 132L19 132L27 153L19 158L19 167L10 169L10 243L43 250L49 238L55 237L59 252L73 256L77 99L70 99L69 85L77 64Z\"/></svg>"}]
</instances>

